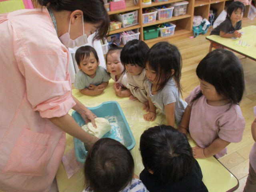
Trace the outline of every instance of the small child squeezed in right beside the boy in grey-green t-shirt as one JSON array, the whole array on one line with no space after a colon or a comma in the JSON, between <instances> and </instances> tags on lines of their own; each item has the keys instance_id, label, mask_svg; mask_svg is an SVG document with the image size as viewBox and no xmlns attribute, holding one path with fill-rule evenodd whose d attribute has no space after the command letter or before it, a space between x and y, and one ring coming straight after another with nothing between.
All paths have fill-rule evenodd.
<instances>
[{"instance_id":1,"label":"small child squeezed in right beside the boy in grey-green t-shirt","mask_svg":"<svg viewBox=\"0 0 256 192\"><path fill-rule=\"evenodd\" d=\"M107 71L110 73L111 78L115 81L114 89L116 95L122 96L121 92L127 92L132 94L128 87L128 80L126 76L125 67L122 65L120 60L120 53L122 47L117 46L116 44L110 44L110 48L106 54L106 66Z\"/></svg>"}]
</instances>

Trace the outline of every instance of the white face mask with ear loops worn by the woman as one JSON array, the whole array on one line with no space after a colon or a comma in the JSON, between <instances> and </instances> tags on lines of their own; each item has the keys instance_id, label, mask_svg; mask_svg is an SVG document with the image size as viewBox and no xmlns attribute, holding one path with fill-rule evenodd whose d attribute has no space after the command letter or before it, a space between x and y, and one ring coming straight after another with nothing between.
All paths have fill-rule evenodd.
<instances>
[{"instance_id":1,"label":"white face mask with ear loops worn by the woman","mask_svg":"<svg viewBox=\"0 0 256 192\"><path fill-rule=\"evenodd\" d=\"M83 16L82 16L82 23L83 23L83 34L84 34L84 17ZM66 46L68 48L74 48L74 47L79 47L81 45L88 43L86 34L84 34L74 40L70 39L70 35L69 35L70 24L71 24L71 19L69 21L68 33L65 33L59 37L62 44L64 44L64 46Z\"/></svg>"}]
</instances>

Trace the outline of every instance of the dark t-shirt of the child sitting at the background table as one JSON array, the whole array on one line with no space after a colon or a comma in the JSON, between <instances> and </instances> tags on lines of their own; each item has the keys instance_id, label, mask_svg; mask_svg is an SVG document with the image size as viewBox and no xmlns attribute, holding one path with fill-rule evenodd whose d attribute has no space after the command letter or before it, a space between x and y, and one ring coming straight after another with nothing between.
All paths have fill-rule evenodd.
<instances>
[{"instance_id":1,"label":"dark t-shirt of the child sitting at the background table","mask_svg":"<svg viewBox=\"0 0 256 192\"><path fill-rule=\"evenodd\" d=\"M236 30L242 29L242 20L236 23L236 27L232 26L231 21L226 18L221 24L219 24L214 30L212 30L210 35L220 35L220 31L225 33L234 33Z\"/></svg>"}]
</instances>

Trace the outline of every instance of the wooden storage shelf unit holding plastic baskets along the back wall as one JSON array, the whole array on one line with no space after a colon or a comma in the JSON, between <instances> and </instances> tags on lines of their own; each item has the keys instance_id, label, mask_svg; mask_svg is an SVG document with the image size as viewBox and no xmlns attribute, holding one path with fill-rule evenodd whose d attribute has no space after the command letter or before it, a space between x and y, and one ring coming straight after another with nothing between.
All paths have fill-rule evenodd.
<instances>
[{"instance_id":1,"label":"wooden storage shelf unit holding plastic baskets along the back wall","mask_svg":"<svg viewBox=\"0 0 256 192\"><path fill-rule=\"evenodd\" d=\"M167 40L167 39L179 38L180 36L185 36L188 34L192 35L193 34L192 26L193 26L194 16L202 16L202 18L208 19L210 8L215 8L217 10L217 16L219 16L222 10L224 10L225 6L228 6L228 4L232 2L232 0L186 0L188 1L188 5L187 5L187 13L185 15L172 16L172 18L169 18L169 19L156 20L155 22L143 24L143 17L142 17L143 8L166 5L166 4L180 2L180 1L183 1L183 0L168 0L168 1L162 1L162 2L152 1L151 4L142 4L141 0L138 0L138 4L134 5L134 0L126 0L126 9L109 11L108 14L110 15L110 18L114 20L114 14L138 10L138 25L130 26L127 28L120 28L118 30L113 30L109 32L109 34L115 34L115 33L120 33L127 30L139 29L140 40L144 40L144 37L143 37L144 27L158 25L164 22L172 22L173 24L176 25L173 35L145 40L145 42L156 43L156 42ZM246 6L244 17L247 17L249 9L250 9L250 6Z\"/></svg>"}]
</instances>

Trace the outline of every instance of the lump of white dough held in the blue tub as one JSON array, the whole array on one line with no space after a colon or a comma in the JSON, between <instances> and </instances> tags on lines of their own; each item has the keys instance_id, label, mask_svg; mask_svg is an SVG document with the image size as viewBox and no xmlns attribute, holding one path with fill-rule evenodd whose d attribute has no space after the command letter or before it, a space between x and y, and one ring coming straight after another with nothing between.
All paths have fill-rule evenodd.
<instances>
[{"instance_id":1,"label":"lump of white dough held in the blue tub","mask_svg":"<svg viewBox=\"0 0 256 192\"><path fill-rule=\"evenodd\" d=\"M94 128L91 122L82 126L82 128L90 135L94 135L98 138L102 138L107 132L111 130L110 123L105 118L97 117L95 118L95 123L97 128Z\"/></svg>"}]
</instances>

